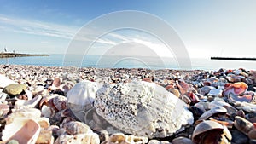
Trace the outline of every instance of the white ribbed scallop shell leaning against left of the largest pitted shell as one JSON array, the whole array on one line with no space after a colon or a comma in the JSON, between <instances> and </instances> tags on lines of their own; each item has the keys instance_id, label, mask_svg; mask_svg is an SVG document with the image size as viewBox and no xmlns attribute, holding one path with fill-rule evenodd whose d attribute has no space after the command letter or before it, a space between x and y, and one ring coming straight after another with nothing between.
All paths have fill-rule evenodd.
<instances>
[{"instance_id":1,"label":"white ribbed scallop shell leaning against left of the largest pitted shell","mask_svg":"<svg viewBox=\"0 0 256 144\"><path fill-rule=\"evenodd\" d=\"M81 81L67 92L67 101L79 106L92 104L97 89L96 82L90 82L88 80Z\"/></svg>"}]
</instances>

